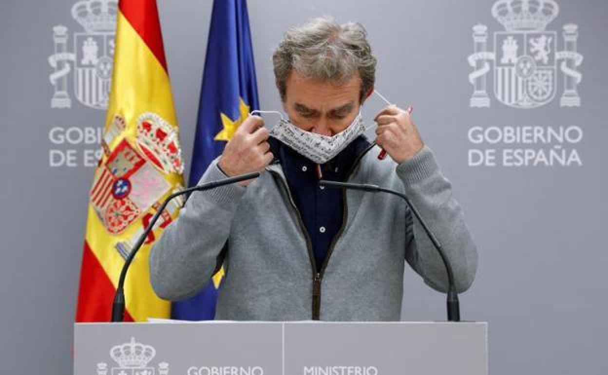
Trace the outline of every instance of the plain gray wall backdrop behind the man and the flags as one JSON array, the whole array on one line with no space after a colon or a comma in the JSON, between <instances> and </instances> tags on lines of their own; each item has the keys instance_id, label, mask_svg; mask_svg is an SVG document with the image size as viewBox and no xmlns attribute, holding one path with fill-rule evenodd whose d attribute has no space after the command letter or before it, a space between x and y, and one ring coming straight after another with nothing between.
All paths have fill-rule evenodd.
<instances>
[{"instance_id":1,"label":"plain gray wall backdrop behind the man and the flags","mask_svg":"<svg viewBox=\"0 0 608 375\"><path fill-rule=\"evenodd\" d=\"M74 2L0 2L0 368L6 374L71 372L72 323L93 174L83 157L92 152L86 150L98 147L79 139L78 131L98 128L105 119L104 111L74 97L73 72L66 76L71 108L50 105L55 90L49 81L54 68L48 61L54 54L53 27L68 27L67 52L74 52L74 33L83 32L71 17ZM400 106L414 106L421 134L465 208L480 268L471 291L461 297L462 314L467 320L489 322L491 373L605 374L608 204L601 191L606 191L607 182L608 2L561 0L559 15L547 26L556 32L554 49L561 51L562 27L578 25L577 49L584 56L576 68L582 74L576 88L579 107L560 105L567 80L560 69L548 71L548 87L556 92L545 105L521 109L500 103L492 90L490 61L490 106L471 108L469 74L475 69L467 58L474 52L472 26L488 27L489 51L494 50L494 33L504 30L491 15L492 4L252 0L249 17L261 106L280 108L270 57L287 27L317 15L362 22L379 59L376 88ZM159 1L188 162L210 8L210 0ZM364 107L365 118L369 121L381 106L371 100ZM468 136L476 126L539 126L545 131L562 126L573 127L573 132L571 142L491 143L496 141L494 130L478 144ZM61 142L66 131L75 144ZM476 137L476 131L473 134ZM569 156L574 152L578 160L566 165L556 161L510 166L503 160L495 166L471 166L471 149L497 154L529 149L535 157L551 150ZM75 150L69 151L75 155L75 167L52 167L49 153L57 156L67 150ZM413 272L407 272L405 283L403 320L443 320L444 297Z\"/></svg>"}]
</instances>

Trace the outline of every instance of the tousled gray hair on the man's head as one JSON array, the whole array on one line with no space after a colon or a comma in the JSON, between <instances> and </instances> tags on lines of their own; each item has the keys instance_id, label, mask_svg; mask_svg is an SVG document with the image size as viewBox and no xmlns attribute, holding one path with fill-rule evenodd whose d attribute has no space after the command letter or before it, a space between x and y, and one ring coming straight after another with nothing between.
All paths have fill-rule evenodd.
<instances>
[{"instance_id":1,"label":"tousled gray hair on the man's head","mask_svg":"<svg viewBox=\"0 0 608 375\"><path fill-rule=\"evenodd\" d=\"M272 54L272 64L282 101L286 100L286 81L293 69L303 77L336 83L358 73L360 100L373 88L376 77L376 58L364 27L356 22L340 25L330 17L289 29Z\"/></svg>"}]
</instances>

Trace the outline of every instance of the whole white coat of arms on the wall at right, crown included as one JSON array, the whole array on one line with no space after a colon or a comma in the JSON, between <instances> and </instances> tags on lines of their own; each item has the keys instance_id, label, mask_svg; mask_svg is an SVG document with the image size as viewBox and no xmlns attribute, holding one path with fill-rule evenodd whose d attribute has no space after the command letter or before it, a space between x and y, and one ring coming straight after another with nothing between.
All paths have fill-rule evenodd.
<instances>
[{"instance_id":1,"label":"whole white coat of arms on the wall at right, crown included","mask_svg":"<svg viewBox=\"0 0 608 375\"><path fill-rule=\"evenodd\" d=\"M559 105L581 105L576 91L582 75L576 69L582 55L576 50L578 26L563 27L562 47L558 52L559 36L545 30L559 13L553 0L499 0L492 6L492 16L502 24L504 31L494 33L494 52L487 50L488 27L473 27L474 53L468 62L474 68L469 82L474 87L471 107L489 107L486 75L494 62L492 86L494 96L504 105L513 108L537 108L555 97L559 84L562 94ZM558 78L559 73L563 80Z\"/></svg>"}]
</instances>

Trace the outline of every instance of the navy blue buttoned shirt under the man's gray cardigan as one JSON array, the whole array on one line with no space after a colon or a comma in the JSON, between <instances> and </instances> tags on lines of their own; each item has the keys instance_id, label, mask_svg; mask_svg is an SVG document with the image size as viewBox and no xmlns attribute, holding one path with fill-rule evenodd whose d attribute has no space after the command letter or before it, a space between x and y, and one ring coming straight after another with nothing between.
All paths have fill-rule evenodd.
<instances>
[{"instance_id":1,"label":"navy blue buttoned shirt under the man's gray cardigan","mask_svg":"<svg viewBox=\"0 0 608 375\"><path fill-rule=\"evenodd\" d=\"M289 191L311 239L317 271L320 271L331 243L342 227L344 193L342 189L320 186L316 163L289 146L277 143L278 150L273 150L275 157L282 164ZM336 157L320 165L323 179L344 182L354 161L368 146L370 142L364 136L355 139Z\"/></svg>"}]
</instances>

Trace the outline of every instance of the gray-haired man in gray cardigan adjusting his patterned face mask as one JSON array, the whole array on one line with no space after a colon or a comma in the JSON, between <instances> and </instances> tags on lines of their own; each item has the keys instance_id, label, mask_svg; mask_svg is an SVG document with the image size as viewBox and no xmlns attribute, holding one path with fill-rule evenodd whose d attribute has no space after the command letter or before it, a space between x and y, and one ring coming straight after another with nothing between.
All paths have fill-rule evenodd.
<instances>
[{"instance_id":1,"label":"gray-haired man in gray cardigan adjusting his patterned face mask","mask_svg":"<svg viewBox=\"0 0 608 375\"><path fill-rule=\"evenodd\" d=\"M221 320L399 320L404 265L447 291L444 264L390 194L325 188L320 177L401 191L443 244L458 292L477 250L451 185L407 111L375 118L376 144L359 111L373 92L376 58L359 24L319 18L289 30L273 56L283 120L250 116L200 183L252 171L258 179L194 193L150 257L161 298L190 297L223 264ZM379 159L381 148L390 157Z\"/></svg>"}]
</instances>

